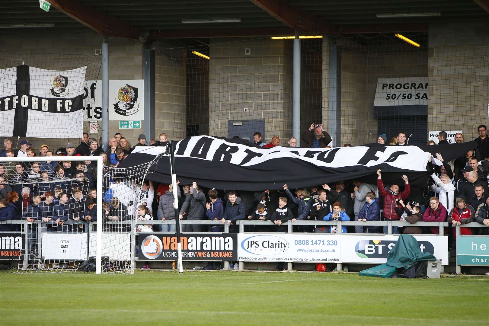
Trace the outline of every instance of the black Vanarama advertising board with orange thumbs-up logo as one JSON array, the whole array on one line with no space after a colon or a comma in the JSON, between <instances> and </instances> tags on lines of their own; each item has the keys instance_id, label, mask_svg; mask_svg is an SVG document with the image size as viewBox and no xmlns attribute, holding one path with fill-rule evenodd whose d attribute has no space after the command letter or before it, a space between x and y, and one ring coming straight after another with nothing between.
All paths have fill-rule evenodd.
<instances>
[{"instance_id":1,"label":"black Vanarama advertising board with orange thumbs-up logo","mask_svg":"<svg viewBox=\"0 0 489 326\"><path fill-rule=\"evenodd\" d=\"M176 260L177 237L169 234L139 235L140 260ZM237 261L237 234L193 233L181 235L185 261Z\"/></svg>"}]
</instances>

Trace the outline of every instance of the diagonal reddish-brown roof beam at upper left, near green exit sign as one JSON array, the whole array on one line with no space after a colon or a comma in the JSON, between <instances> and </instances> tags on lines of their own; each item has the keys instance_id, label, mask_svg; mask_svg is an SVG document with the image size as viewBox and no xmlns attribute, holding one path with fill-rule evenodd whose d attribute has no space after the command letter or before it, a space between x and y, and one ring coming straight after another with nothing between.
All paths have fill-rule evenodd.
<instances>
[{"instance_id":1,"label":"diagonal reddish-brown roof beam at upper left, near green exit sign","mask_svg":"<svg viewBox=\"0 0 489 326\"><path fill-rule=\"evenodd\" d=\"M85 6L77 1L49 0L49 2L54 8L97 33L132 40L138 40L139 35L141 35L139 26L132 26L128 22L122 22L111 16L104 15L92 7Z\"/></svg>"}]
</instances>

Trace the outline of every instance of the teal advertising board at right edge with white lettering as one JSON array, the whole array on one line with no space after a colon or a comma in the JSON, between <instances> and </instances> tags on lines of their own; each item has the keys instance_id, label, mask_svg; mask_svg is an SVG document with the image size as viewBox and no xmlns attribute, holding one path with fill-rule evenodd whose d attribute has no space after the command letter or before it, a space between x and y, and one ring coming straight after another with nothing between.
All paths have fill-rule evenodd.
<instances>
[{"instance_id":1,"label":"teal advertising board at right edge with white lettering","mask_svg":"<svg viewBox=\"0 0 489 326\"><path fill-rule=\"evenodd\" d=\"M489 237L458 236L457 264L489 266Z\"/></svg>"}]
</instances>

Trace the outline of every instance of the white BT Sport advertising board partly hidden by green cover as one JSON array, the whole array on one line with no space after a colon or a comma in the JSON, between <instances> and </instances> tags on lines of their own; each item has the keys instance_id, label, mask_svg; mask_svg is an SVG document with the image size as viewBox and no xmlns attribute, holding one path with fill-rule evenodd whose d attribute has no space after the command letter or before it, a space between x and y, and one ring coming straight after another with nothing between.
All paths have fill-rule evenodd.
<instances>
[{"instance_id":1,"label":"white BT Sport advertising board partly hidden by green cover","mask_svg":"<svg viewBox=\"0 0 489 326\"><path fill-rule=\"evenodd\" d=\"M399 239L396 236L340 236L341 262L384 263ZM448 237L414 237L422 252L429 252L448 265Z\"/></svg>"}]
</instances>

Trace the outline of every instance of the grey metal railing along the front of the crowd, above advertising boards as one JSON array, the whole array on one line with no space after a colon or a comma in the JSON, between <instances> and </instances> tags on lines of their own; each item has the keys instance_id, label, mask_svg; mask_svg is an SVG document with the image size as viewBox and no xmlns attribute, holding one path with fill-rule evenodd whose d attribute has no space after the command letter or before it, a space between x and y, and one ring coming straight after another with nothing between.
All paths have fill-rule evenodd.
<instances>
[{"instance_id":1,"label":"grey metal railing along the front of the crowd, above advertising boards","mask_svg":"<svg viewBox=\"0 0 489 326\"><path fill-rule=\"evenodd\" d=\"M229 226L227 223L222 223L221 221L211 221L211 220L180 220L180 229L182 229L183 225L190 225L190 224L200 224L200 225L214 225L214 226L223 226L223 232L209 232L209 233L229 233ZM121 222L107 222L107 224L128 224L128 223L133 223L133 221L121 221ZM398 234L393 234L392 233L392 227L393 226L420 226L420 227L439 227L439 234L418 234L422 236L443 236L444 235L444 228L448 226L448 222L417 222L414 224L411 224L409 222L399 222L399 221L367 221L367 222L360 222L360 221L303 221L303 220L296 220L294 222L288 221L283 223L282 225L287 226L287 232L245 232L244 231L244 226L245 225L262 225L262 226L275 226L271 221L260 221L260 220L238 220L236 221L237 225L239 226L239 233L246 233L246 234L254 234L254 233L260 233L260 234L305 234L305 232L293 232L292 226L329 226L329 225L337 225L337 233L336 235L343 234L342 233L342 226L356 226L356 225L361 225L361 226L387 226L387 233L375 233L377 236L382 236L382 235L398 235ZM0 237L2 234L24 234L26 235L26 230L28 230L29 225L37 224L36 229L38 233L43 233L47 232L47 227L49 226L56 226L55 222L49 221L49 222L27 222L26 220L6 220L6 221L0 221L0 224L6 224L6 225L22 225L21 231L0 231ZM93 232L93 225L96 225L95 222L87 222L87 221L73 221L73 220L68 220L66 221L65 225L85 225L85 230L86 232L90 233ZM105 224L105 223L104 223ZM161 224L175 224L175 220L136 220L136 224L153 224L153 225L161 225ZM452 225L452 227L455 227L455 235L456 237L465 237L465 235L460 234L460 228L461 227L470 227L470 228L485 228L486 226L483 224L479 224L476 222L472 223L467 223L467 224L462 224L462 225ZM138 234L149 234L153 232L136 232L136 235ZM160 233L165 233L165 234L175 234L174 232L160 232ZM185 232L185 233L196 233L196 232ZM307 233L306 233L307 234ZM331 233L323 233L323 234L331 234ZM347 235L357 235L357 236L369 236L372 235L373 233L346 233ZM416 234L415 234L416 235ZM485 237L488 238L488 244L489 244L489 236L477 236L477 235L472 235L472 237ZM30 237L25 236L25 243L24 243L24 248L29 248L30 247L30 242L29 239ZM458 254L458 250L457 250ZM24 255L24 261L23 261L23 267L27 266L28 262L26 261L26 256ZM458 255L457 255L458 256ZM5 260L4 258L0 257L0 260ZM11 260L11 259L9 259ZM137 259L136 259L137 260ZM168 259L168 260L160 260L160 261L172 261L173 259ZM341 270L341 263L337 263L337 269ZM244 269L244 261L239 261L239 268ZM229 262L224 261L224 269L229 269ZM292 263L287 262L287 269L292 270ZM456 273L461 274L461 265L458 264L458 257L456 258Z\"/></svg>"}]
</instances>

